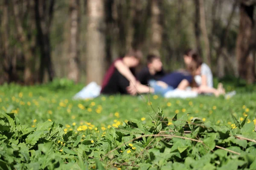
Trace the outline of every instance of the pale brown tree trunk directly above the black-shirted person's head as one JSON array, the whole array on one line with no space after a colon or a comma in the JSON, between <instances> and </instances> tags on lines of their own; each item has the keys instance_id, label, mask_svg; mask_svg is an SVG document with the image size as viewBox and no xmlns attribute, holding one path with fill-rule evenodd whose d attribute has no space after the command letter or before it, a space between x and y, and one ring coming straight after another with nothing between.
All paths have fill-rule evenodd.
<instances>
[{"instance_id":1,"label":"pale brown tree trunk directly above the black-shirted person's head","mask_svg":"<svg viewBox=\"0 0 256 170\"><path fill-rule=\"evenodd\" d=\"M160 55L163 27L161 23L161 0L151 0L151 47L150 52Z\"/></svg>"}]
</instances>

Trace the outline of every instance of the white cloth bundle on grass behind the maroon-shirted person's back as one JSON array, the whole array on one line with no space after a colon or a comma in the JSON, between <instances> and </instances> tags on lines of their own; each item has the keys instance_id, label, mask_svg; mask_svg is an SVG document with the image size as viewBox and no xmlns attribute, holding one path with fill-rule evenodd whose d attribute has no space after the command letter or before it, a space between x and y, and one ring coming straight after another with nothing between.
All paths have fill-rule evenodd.
<instances>
[{"instance_id":1,"label":"white cloth bundle on grass behind the maroon-shirted person's back","mask_svg":"<svg viewBox=\"0 0 256 170\"><path fill-rule=\"evenodd\" d=\"M79 91L73 99L93 99L100 95L101 86L96 82L90 82L81 91Z\"/></svg>"}]
</instances>

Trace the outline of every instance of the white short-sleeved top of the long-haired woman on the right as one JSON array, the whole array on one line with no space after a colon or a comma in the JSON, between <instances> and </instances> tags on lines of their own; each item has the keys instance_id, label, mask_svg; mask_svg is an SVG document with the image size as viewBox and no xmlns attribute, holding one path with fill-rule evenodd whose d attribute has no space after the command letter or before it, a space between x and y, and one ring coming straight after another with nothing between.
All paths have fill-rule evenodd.
<instances>
[{"instance_id":1,"label":"white short-sleeved top of the long-haired woman on the right","mask_svg":"<svg viewBox=\"0 0 256 170\"><path fill-rule=\"evenodd\" d=\"M205 63L201 65L201 75L195 76L195 82L198 86L202 84L202 75L206 76L207 78L207 86L212 88L213 87L213 77L212 77L212 71L209 68L209 66Z\"/></svg>"}]
</instances>

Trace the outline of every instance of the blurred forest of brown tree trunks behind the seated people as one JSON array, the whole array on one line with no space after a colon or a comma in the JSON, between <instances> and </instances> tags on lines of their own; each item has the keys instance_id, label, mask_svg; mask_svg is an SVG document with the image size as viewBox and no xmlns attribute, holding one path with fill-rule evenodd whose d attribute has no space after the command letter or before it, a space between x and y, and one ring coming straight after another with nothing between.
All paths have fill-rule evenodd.
<instances>
[{"instance_id":1,"label":"blurred forest of brown tree trunks behind the seated people","mask_svg":"<svg viewBox=\"0 0 256 170\"><path fill-rule=\"evenodd\" d=\"M184 67L198 50L218 78L255 82L256 0L0 0L0 84L101 84L135 47ZM145 60L144 60L145 64Z\"/></svg>"}]
</instances>

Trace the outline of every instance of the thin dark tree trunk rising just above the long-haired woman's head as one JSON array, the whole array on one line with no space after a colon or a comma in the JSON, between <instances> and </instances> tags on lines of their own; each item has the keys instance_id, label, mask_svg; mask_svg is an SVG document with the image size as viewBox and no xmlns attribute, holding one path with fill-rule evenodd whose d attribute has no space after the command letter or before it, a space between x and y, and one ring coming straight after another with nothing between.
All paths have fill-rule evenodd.
<instances>
[{"instance_id":1,"label":"thin dark tree trunk rising just above the long-haired woman's head","mask_svg":"<svg viewBox=\"0 0 256 170\"><path fill-rule=\"evenodd\" d=\"M202 48L201 48L201 29L200 29L200 8L199 8L199 0L194 0L195 2L195 41L196 41L196 48L198 51L198 54L202 56Z\"/></svg>"}]
</instances>

